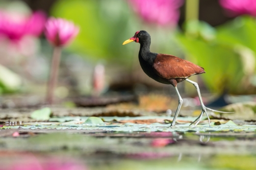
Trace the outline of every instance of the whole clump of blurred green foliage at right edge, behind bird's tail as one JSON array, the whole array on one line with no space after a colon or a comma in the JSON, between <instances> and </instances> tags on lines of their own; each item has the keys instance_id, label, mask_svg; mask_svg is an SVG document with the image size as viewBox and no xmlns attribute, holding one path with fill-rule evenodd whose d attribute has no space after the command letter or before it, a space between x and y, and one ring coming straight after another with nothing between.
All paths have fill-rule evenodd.
<instances>
[{"instance_id":1,"label":"whole clump of blurred green foliage at right edge, behind bird's tail","mask_svg":"<svg viewBox=\"0 0 256 170\"><path fill-rule=\"evenodd\" d=\"M202 66L203 80L217 93L251 94L255 73L256 22L249 17L236 18L215 30L202 21L186 23L185 34L177 39L189 60Z\"/></svg>"}]
</instances>

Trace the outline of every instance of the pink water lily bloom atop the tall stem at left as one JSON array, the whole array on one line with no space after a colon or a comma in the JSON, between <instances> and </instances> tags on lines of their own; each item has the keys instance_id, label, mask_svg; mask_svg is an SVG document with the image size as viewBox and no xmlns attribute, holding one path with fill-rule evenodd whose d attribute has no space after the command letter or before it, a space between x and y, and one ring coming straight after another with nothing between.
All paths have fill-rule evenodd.
<instances>
[{"instance_id":1,"label":"pink water lily bloom atop the tall stem at left","mask_svg":"<svg viewBox=\"0 0 256 170\"><path fill-rule=\"evenodd\" d=\"M79 33L79 27L62 18L49 18L45 25L45 36L54 46L65 46Z\"/></svg>"}]
</instances>

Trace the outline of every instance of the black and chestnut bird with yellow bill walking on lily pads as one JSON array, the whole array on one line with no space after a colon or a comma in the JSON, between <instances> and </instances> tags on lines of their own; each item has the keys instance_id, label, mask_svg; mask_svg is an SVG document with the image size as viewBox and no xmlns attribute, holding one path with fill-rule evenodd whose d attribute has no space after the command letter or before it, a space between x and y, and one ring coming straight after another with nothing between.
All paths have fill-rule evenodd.
<instances>
[{"instance_id":1,"label":"black and chestnut bird with yellow bill walking on lily pads","mask_svg":"<svg viewBox=\"0 0 256 170\"><path fill-rule=\"evenodd\" d=\"M177 89L177 83L184 80L194 85L197 90L199 101L201 104L201 114L189 126L194 123L194 126L197 126L197 124L201 121L202 115L205 113L209 121L209 126L211 127L211 122L209 115L207 114L207 110L221 113L230 113L213 110L204 106L197 82L188 79L192 75L206 73L202 67L197 66L187 60L178 58L174 55L150 52L151 38L150 35L144 30L137 31L132 38L124 41L122 45L130 42L140 43L139 62L142 70L150 78L160 83L171 84L176 90L178 96L178 106L170 127L175 127L175 122L183 103L183 99Z\"/></svg>"}]
</instances>

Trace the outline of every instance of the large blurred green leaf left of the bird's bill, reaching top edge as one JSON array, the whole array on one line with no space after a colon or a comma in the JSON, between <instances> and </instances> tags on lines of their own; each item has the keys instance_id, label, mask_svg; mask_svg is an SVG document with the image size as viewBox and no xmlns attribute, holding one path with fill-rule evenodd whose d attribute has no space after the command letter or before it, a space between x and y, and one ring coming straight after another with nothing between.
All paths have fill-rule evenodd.
<instances>
[{"instance_id":1,"label":"large blurred green leaf left of the bird's bill, reaching top edge","mask_svg":"<svg viewBox=\"0 0 256 170\"><path fill-rule=\"evenodd\" d=\"M135 32L128 31L127 11L129 10L125 1L64 0L54 5L52 14L72 20L80 26L80 33L72 44L74 50L94 60L125 60L132 53L127 47L121 48L125 40L123 37L130 38Z\"/></svg>"}]
</instances>

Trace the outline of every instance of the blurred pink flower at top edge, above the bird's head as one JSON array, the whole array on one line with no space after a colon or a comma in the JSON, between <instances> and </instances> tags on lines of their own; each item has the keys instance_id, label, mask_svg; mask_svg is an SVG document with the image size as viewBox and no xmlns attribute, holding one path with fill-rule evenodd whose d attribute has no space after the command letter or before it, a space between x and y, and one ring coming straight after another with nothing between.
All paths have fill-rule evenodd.
<instances>
[{"instance_id":1,"label":"blurred pink flower at top edge, above the bird's head","mask_svg":"<svg viewBox=\"0 0 256 170\"><path fill-rule=\"evenodd\" d=\"M130 0L133 9L147 22L176 25L183 0Z\"/></svg>"}]
</instances>

